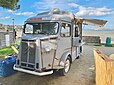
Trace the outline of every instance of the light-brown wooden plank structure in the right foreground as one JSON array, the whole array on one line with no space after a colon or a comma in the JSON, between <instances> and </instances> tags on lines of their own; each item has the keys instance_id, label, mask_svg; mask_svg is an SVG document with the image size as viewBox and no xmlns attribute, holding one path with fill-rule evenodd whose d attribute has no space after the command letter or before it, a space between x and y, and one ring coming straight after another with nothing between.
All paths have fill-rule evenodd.
<instances>
[{"instance_id":1,"label":"light-brown wooden plank structure in the right foreground","mask_svg":"<svg viewBox=\"0 0 114 85\"><path fill-rule=\"evenodd\" d=\"M114 85L114 61L94 49L96 85Z\"/></svg>"}]
</instances>

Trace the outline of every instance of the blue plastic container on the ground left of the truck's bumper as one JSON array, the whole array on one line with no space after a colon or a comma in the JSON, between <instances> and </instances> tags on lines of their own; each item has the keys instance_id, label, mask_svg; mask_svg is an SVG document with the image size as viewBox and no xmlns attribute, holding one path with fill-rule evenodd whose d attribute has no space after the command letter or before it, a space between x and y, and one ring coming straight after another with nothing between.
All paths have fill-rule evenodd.
<instances>
[{"instance_id":1,"label":"blue plastic container on the ground left of the truck's bumper","mask_svg":"<svg viewBox=\"0 0 114 85\"><path fill-rule=\"evenodd\" d=\"M16 63L15 57L8 57L3 60L0 60L0 77L6 77L11 74L14 74L16 72L13 69L15 63Z\"/></svg>"}]
</instances>

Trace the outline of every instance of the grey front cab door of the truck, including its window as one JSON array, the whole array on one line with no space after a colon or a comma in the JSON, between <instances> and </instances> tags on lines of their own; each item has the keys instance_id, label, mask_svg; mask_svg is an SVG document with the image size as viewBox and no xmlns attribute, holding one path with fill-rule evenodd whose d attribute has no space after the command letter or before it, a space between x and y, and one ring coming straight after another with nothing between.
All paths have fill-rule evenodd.
<instances>
[{"instance_id":1,"label":"grey front cab door of the truck, including its window","mask_svg":"<svg viewBox=\"0 0 114 85\"><path fill-rule=\"evenodd\" d=\"M71 24L62 23L57 40L56 58L60 59L65 52L71 53Z\"/></svg>"}]
</instances>

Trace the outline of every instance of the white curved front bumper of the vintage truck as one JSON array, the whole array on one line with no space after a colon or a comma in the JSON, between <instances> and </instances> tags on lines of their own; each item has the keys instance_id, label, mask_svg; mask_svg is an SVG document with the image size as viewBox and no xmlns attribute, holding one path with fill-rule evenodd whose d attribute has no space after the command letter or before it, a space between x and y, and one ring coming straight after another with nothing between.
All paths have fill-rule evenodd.
<instances>
[{"instance_id":1,"label":"white curved front bumper of the vintage truck","mask_svg":"<svg viewBox=\"0 0 114 85\"><path fill-rule=\"evenodd\" d=\"M44 76L44 75L49 75L53 73L53 70L51 71L47 71L47 72L35 72L35 71L30 71L30 70L26 70L26 69L22 69L22 68L18 68L14 65L14 70L20 71L20 72L25 72L25 73L29 73L29 74L33 74L33 75L38 75L38 76Z\"/></svg>"}]
</instances>

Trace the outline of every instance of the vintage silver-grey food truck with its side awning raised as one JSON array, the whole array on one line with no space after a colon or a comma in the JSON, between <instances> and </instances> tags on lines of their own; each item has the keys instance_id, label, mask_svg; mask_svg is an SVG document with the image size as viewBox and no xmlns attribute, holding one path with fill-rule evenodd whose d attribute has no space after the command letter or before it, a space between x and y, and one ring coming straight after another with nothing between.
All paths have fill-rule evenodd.
<instances>
[{"instance_id":1,"label":"vintage silver-grey food truck with its side awning raised","mask_svg":"<svg viewBox=\"0 0 114 85\"><path fill-rule=\"evenodd\" d=\"M82 52L82 24L103 26L106 22L79 18L59 9L27 19L14 69L38 76L54 70L66 75Z\"/></svg>"}]
</instances>

